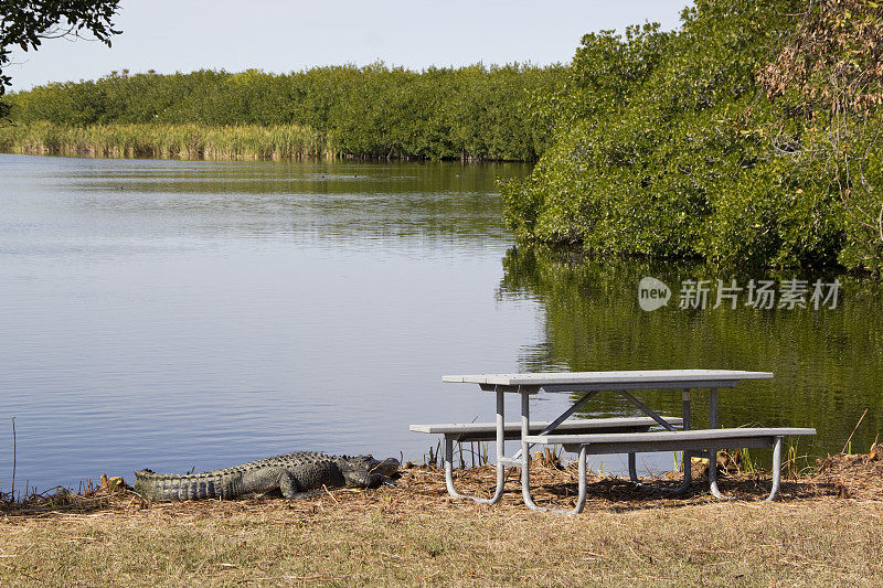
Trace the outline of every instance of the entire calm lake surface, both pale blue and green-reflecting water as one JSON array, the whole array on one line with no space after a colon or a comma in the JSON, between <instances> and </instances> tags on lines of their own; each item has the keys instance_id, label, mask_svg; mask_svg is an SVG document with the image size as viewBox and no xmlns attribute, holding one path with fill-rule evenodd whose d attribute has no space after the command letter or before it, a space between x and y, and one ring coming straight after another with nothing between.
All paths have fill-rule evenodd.
<instances>
[{"instance_id":1,"label":"entire calm lake surface, both pale blue and green-reflecting water","mask_svg":"<svg viewBox=\"0 0 883 588\"><path fill-rule=\"evenodd\" d=\"M816 456L868 408L853 437L868 449L883 414L876 282L517 248L494 180L529 171L0 156L0 491L12 416L19 491L296 449L422 460L435 439L408 424L492 420L493 396L448 373L772 371L721 393L724 426L813 426L799 452ZM639 308L646 276L671 287L668 306ZM837 307L678 308L687 279L795 277L839 279ZM641 397L679 414L677 393ZM538 398L534 416L567 400ZM591 414L634 411L610 396Z\"/></svg>"}]
</instances>

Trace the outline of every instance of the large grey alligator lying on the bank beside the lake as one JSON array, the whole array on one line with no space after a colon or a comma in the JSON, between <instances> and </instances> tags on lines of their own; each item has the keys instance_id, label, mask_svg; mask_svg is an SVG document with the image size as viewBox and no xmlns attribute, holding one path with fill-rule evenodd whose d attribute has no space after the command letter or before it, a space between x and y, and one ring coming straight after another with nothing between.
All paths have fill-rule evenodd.
<instances>
[{"instance_id":1,"label":"large grey alligator lying on the bank beside the lake","mask_svg":"<svg viewBox=\"0 0 883 588\"><path fill-rule=\"evenodd\" d=\"M185 475L135 472L135 491L150 501L236 499L281 491L289 500L309 498L322 487L377 488L392 484L398 460L371 456L327 456L294 451L223 470Z\"/></svg>"}]
</instances>

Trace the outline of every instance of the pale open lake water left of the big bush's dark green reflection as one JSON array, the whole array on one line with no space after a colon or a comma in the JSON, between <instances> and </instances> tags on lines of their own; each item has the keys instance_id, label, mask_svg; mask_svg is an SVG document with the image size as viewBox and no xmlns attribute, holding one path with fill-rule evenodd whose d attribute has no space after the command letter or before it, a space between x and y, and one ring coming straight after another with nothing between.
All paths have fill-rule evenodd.
<instances>
[{"instance_id":1,"label":"pale open lake water left of the big bush's dark green reflection","mask_svg":"<svg viewBox=\"0 0 883 588\"><path fill-rule=\"evenodd\" d=\"M294 449L421 459L409 423L492 410L440 375L514 368L538 334L534 303L493 296L494 180L526 171L0 156L19 489Z\"/></svg>"}]
</instances>

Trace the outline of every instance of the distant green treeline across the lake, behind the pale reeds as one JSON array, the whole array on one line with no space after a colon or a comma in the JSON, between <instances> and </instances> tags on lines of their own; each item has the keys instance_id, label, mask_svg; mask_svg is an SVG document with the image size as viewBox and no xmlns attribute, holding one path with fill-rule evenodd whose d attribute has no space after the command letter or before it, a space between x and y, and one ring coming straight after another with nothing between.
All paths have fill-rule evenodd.
<instances>
[{"instance_id":1,"label":"distant green treeline across the lake, behind the pale reeds","mask_svg":"<svg viewBox=\"0 0 883 588\"><path fill-rule=\"evenodd\" d=\"M413 72L375 63L287 75L115 72L11 100L22 124L297 125L343 156L526 161L550 139L533 124L531 96L562 71L512 64Z\"/></svg>"}]
</instances>

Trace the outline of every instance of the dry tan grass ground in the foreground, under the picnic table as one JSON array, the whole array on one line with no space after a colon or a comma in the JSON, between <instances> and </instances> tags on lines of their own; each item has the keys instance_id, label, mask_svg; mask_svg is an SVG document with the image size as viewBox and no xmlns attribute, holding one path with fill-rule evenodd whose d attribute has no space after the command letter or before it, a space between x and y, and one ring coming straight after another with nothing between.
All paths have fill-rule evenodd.
<instances>
[{"instance_id":1,"label":"dry tan grass ground in the foreground, under the picnic table","mask_svg":"<svg viewBox=\"0 0 883 588\"><path fill-rule=\"evenodd\" d=\"M883 585L883 461L830 459L756 499L733 475L716 502L668 499L598 479L577 516L529 512L514 480L502 504L453 501L434 468L400 485L281 499L143 504L129 493L43 498L0 513L3 586ZM493 470L459 473L467 490ZM538 502L572 504L572 469L538 469ZM674 484L661 480L658 483Z\"/></svg>"}]
</instances>

